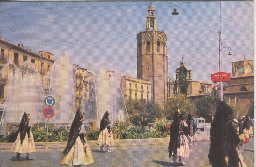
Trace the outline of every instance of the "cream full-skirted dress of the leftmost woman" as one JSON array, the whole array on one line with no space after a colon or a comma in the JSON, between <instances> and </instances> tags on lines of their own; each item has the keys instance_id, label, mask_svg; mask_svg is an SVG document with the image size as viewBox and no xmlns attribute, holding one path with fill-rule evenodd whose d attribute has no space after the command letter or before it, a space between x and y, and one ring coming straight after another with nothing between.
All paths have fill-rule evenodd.
<instances>
[{"instance_id":1,"label":"cream full-skirted dress of the leftmost woman","mask_svg":"<svg viewBox=\"0 0 256 167\"><path fill-rule=\"evenodd\" d=\"M25 126L25 129L23 133L25 133L25 138L23 139L23 142L21 141L21 131L19 131L16 141L14 142L11 151L16 153L32 153L36 152L35 142L33 138L33 134L30 130L31 124L29 121L25 122L27 123L27 126ZM28 141L28 138L31 138L31 141ZM22 143L22 144L21 144Z\"/></svg>"}]
</instances>

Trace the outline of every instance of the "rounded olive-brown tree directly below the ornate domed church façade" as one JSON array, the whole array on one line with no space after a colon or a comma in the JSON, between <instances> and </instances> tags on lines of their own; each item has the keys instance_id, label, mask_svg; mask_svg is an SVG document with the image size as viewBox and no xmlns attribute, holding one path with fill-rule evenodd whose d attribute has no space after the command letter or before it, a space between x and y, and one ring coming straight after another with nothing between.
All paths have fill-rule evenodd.
<instances>
[{"instance_id":1,"label":"rounded olive-brown tree directly below the ornate domed church fa\u00e7ade","mask_svg":"<svg viewBox=\"0 0 256 167\"><path fill-rule=\"evenodd\" d=\"M195 115L195 104L192 100L187 99L184 95L177 95L174 98L167 99L164 104L163 116L166 119L173 119L176 111L176 104L179 104L181 119L186 120L189 112Z\"/></svg>"}]
</instances>

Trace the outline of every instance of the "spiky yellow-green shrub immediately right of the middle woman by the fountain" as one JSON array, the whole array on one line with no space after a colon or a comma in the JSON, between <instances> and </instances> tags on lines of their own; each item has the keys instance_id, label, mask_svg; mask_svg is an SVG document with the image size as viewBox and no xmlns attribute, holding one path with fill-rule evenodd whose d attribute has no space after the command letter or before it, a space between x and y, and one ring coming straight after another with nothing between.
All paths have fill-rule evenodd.
<instances>
[{"instance_id":1,"label":"spiky yellow-green shrub immediately right of the middle woman by the fountain","mask_svg":"<svg viewBox=\"0 0 256 167\"><path fill-rule=\"evenodd\" d=\"M116 119L112 126L114 139L126 139L126 133L131 127L132 123L129 122L129 119Z\"/></svg>"}]
</instances>

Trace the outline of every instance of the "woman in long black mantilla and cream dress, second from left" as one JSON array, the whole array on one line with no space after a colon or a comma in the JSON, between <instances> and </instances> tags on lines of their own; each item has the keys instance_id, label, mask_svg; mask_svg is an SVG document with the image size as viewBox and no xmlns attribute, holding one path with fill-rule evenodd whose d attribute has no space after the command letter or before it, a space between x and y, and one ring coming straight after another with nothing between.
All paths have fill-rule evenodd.
<instances>
[{"instance_id":1,"label":"woman in long black mantilla and cream dress, second from left","mask_svg":"<svg viewBox=\"0 0 256 167\"><path fill-rule=\"evenodd\" d=\"M80 167L81 165L88 165L94 162L91 150L84 137L86 134L83 125L84 119L84 113L81 113L80 108L78 108L70 127L67 147L62 152L63 157L60 165Z\"/></svg>"}]
</instances>

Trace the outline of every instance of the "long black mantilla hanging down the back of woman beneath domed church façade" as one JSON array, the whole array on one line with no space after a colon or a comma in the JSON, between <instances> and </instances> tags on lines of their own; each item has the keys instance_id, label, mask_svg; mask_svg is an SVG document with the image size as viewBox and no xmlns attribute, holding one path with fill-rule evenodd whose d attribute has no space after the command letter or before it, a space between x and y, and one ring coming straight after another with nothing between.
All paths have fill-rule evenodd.
<instances>
[{"instance_id":1,"label":"long black mantilla hanging down the back of woman beneath domed church fa\u00e7ade","mask_svg":"<svg viewBox=\"0 0 256 167\"><path fill-rule=\"evenodd\" d=\"M173 155L177 155L177 148L179 147L179 129L180 129L180 116L178 111L174 113L173 122L170 128L170 142L168 147L169 158Z\"/></svg>"}]
</instances>

